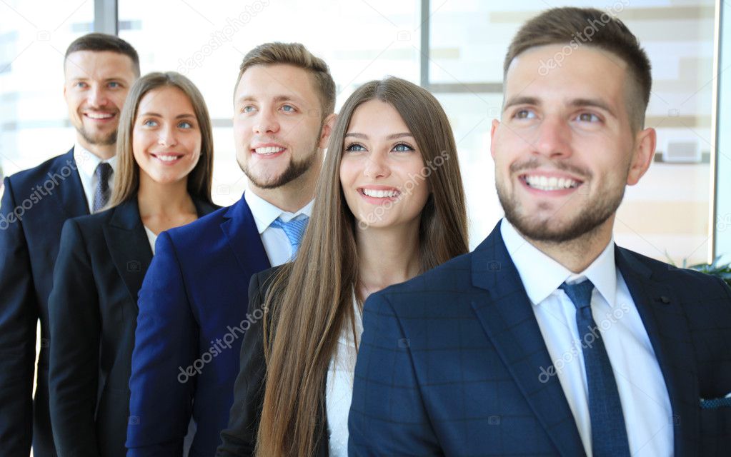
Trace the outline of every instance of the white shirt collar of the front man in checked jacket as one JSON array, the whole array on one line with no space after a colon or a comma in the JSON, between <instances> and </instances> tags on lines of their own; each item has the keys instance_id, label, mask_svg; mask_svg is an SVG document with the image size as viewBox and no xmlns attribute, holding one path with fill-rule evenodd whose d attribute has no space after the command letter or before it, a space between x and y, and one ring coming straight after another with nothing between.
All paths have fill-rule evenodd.
<instances>
[{"instance_id":1,"label":"white shirt collar of the front man in checked jacket","mask_svg":"<svg viewBox=\"0 0 731 457\"><path fill-rule=\"evenodd\" d=\"M586 277L591 280L605 301L614 306L617 289L617 267L614 263L614 238L610 239L599 257L583 272L572 273L565 266L550 258L534 245L531 245L507 219L501 221L500 233L507 252L510 253L520 280L526 288L528 298L539 304L558 289L562 283L578 282Z\"/></svg>"}]
</instances>

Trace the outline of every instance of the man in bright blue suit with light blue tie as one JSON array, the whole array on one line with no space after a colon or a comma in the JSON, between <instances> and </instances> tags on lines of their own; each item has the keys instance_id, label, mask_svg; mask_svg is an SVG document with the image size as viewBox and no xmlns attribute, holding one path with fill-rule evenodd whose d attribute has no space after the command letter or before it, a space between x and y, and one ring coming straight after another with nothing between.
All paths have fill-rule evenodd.
<instances>
[{"instance_id":1,"label":"man in bright blue suit with light blue tie","mask_svg":"<svg viewBox=\"0 0 731 457\"><path fill-rule=\"evenodd\" d=\"M129 456L213 456L228 423L252 274L295 254L334 120L327 64L298 43L243 59L236 157L249 190L231 207L160 234L145 275L132 353ZM192 423L191 423L191 418Z\"/></svg>"}]
</instances>

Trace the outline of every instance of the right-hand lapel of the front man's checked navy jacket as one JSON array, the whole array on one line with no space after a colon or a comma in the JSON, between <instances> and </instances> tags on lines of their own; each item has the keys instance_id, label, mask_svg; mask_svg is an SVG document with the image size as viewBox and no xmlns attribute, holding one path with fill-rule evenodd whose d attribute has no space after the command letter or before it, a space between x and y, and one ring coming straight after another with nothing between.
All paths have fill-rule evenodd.
<instances>
[{"instance_id":1,"label":"right-hand lapel of the front man's checked navy jacket","mask_svg":"<svg viewBox=\"0 0 731 457\"><path fill-rule=\"evenodd\" d=\"M687 443L699 436L697 368L690 331L670 284L652 279L651 270L628 250L616 247L616 263L640 313L665 380L673 409L675 455L693 455Z\"/></svg>"}]
</instances>

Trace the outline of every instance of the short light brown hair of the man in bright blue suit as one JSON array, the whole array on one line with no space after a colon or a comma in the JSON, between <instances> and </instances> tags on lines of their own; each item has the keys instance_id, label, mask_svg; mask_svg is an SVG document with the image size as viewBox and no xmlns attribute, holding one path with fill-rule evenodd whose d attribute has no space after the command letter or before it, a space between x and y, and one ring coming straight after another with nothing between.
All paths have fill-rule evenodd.
<instances>
[{"instance_id":1,"label":"short light brown hair of the man in bright blue suit","mask_svg":"<svg viewBox=\"0 0 731 457\"><path fill-rule=\"evenodd\" d=\"M335 81L330 69L321 58L314 56L301 43L264 43L250 50L241 62L234 91L243 72L255 65L287 64L306 70L312 75L317 96L322 107L322 118L335 112Z\"/></svg>"}]
</instances>

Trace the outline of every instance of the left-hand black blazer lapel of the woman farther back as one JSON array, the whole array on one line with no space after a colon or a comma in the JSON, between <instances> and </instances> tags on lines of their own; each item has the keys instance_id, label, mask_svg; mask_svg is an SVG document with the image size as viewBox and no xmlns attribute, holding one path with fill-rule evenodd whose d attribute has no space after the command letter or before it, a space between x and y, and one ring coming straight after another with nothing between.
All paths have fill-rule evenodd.
<instances>
[{"instance_id":1,"label":"left-hand black blazer lapel of the woman farther back","mask_svg":"<svg viewBox=\"0 0 731 457\"><path fill-rule=\"evenodd\" d=\"M104 226L107 248L132 302L137 304L137 293L152 261L150 242L140 220L136 198L125 201L112 211Z\"/></svg>"}]
</instances>

